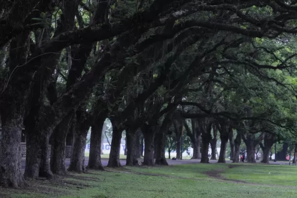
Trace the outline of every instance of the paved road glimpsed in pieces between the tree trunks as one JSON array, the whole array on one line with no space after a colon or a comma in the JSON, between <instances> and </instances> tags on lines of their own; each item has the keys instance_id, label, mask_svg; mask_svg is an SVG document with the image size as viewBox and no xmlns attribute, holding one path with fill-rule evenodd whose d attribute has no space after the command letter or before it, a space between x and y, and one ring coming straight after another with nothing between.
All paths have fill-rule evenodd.
<instances>
[{"instance_id":1,"label":"paved road glimpsed in pieces between the tree trunks","mask_svg":"<svg viewBox=\"0 0 297 198\"><path fill-rule=\"evenodd\" d=\"M86 166L88 165L88 162L89 162L89 157L86 157L85 158ZM126 165L126 160L120 160L120 162L121 162L122 166ZM169 165L178 165L178 164L199 163L200 160L199 159L183 159L183 160L171 160L171 159L168 159L167 162L168 162ZM209 160L209 162L210 163L217 163L217 160ZM257 161L257 162L259 163L259 161ZM101 159L101 163L102 163L103 166L107 166L108 159ZM226 163L232 163L232 161L227 160ZM278 162L270 161L269 163L272 164L272 165L289 165L289 162L287 162L287 161L278 161ZM65 160L65 164L66 164L66 167L69 166L69 164L70 164L70 159L69 158L67 158ZM22 159L22 169L25 169L25 159Z\"/></svg>"}]
</instances>

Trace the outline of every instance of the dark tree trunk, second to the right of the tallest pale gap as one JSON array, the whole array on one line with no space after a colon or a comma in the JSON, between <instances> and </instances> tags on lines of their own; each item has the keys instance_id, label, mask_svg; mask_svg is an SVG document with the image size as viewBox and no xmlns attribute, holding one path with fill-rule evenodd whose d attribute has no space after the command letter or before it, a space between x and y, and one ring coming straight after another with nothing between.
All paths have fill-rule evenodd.
<instances>
[{"instance_id":1,"label":"dark tree trunk, second to the right of the tallest pale gap","mask_svg":"<svg viewBox=\"0 0 297 198\"><path fill-rule=\"evenodd\" d=\"M126 158L126 165L127 166L135 166L138 165L137 160L137 147L138 143L136 142L137 132L135 130L127 130L126 131L126 140L127 140L127 158Z\"/></svg>"}]
</instances>

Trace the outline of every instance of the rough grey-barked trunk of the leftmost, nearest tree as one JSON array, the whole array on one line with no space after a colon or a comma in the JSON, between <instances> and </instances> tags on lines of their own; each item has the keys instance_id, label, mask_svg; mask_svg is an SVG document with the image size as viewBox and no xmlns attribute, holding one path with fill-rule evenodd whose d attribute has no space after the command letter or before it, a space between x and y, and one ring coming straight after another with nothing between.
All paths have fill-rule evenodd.
<instances>
[{"instance_id":1,"label":"rough grey-barked trunk of the leftmost, nearest tree","mask_svg":"<svg viewBox=\"0 0 297 198\"><path fill-rule=\"evenodd\" d=\"M25 111L24 101L32 76L25 73L26 67L15 68L25 64L27 61L29 34L30 31L26 31L18 34L11 40L9 64L6 65L6 68L9 68L10 71L8 75L12 73L13 75L11 75L7 87L2 86L4 82L1 84L4 90L1 90L2 93L0 94L2 128L0 141L0 185L5 187L22 187L26 184L21 172L20 143Z\"/></svg>"}]
</instances>

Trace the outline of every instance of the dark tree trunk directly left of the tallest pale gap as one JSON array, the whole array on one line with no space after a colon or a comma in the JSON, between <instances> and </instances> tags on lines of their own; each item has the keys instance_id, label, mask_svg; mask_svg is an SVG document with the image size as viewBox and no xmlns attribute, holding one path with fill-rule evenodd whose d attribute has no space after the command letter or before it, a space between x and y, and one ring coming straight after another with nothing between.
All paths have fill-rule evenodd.
<instances>
[{"instance_id":1,"label":"dark tree trunk directly left of the tallest pale gap","mask_svg":"<svg viewBox=\"0 0 297 198\"><path fill-rule=\"evenodd\" d=\"M91 140L90 140L90 155L88 168L103 170L101 163L101 137L105 119L97 119L92 124Z\"/></svg>"}]
</instances>

